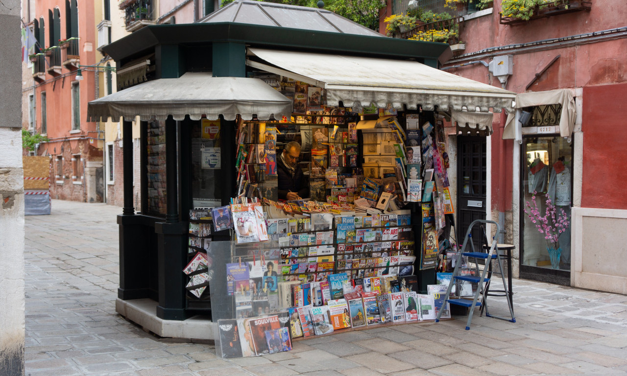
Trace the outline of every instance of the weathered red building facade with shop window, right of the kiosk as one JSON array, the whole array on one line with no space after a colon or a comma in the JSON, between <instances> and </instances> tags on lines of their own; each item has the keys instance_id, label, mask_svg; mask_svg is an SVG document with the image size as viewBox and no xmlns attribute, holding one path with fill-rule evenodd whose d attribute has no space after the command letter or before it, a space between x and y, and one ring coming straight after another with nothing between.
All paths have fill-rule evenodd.
<instances>
[{"instance_id":1,"label":"weathered red building facade with shop window, right of the kiosk","mask_svg":"<svg viewBox=\"0 0 627 376\"><path fill-rule=\"evenodd\" d=\"M510 118L495 114L492 136L451 126L458 226L473 216L500 222L497 235L516 246L514 276L626 293L626 175L618 161L627 157L619 146L627 141L627 4L556 1L531 9L529 20L500 0L473 13L465 6L450 11L460 15L450 43L463 44L451 46L441 68L519 95ZM525 214L545 214L547 199L568 222L552 241Z\"/></svg>"}]
</instances>

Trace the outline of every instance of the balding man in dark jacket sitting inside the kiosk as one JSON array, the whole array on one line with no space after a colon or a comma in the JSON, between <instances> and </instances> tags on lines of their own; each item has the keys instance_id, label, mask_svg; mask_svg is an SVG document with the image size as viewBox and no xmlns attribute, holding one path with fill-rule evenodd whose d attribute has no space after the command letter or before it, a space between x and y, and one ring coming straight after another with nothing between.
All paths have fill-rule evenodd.
<instances>
[{"instance_id":1,"label":"balding man in dark jacket sitting inside the kiosk","mask_svg":"<svg viewBox=\"0 0 627 376\"><path fill-rule=\"evenodd\" d=\"M298 165L300 144L288 142L285 149L277 158L278 198L283 200L298 200L308 197L309 186L303 170Z\"/></svg>"}]
</instances>

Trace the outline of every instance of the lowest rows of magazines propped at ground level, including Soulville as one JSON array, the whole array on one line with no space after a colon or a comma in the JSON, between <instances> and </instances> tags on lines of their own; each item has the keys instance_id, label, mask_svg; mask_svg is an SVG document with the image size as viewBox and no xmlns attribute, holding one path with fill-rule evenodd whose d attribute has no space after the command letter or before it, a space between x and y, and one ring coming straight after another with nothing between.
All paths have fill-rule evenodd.
<instances>
[{"instance_id":1,"label":"lowest rows of magazines propped at ground level, including Soulville","mask_svg":"<svg viewBox=\"0 0 627 376\"><path fill-rule=\"evenodd\" d=\"M448 285L429 285L419 294L416 276L395 279L356 278L347 273L330 274L326 281L291 281L280 301L291 305L284 311L252 318L218 320L223 358L266 355L292 349L292 338L326 335L359 326L411 323L450 318L444 296Z\"/></svg>"}]
</instances>

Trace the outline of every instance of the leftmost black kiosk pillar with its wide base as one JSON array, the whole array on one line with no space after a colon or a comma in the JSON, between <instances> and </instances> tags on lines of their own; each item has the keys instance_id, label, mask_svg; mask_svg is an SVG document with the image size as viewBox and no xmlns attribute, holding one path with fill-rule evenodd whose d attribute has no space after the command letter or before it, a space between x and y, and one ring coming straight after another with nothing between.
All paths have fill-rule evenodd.
<instances>
[{"instance_id":1,"label":"leftmost black kiosk pillar with its wide base","mask_svg":"<svg viewBox=\"0 0 627 376\"><path fill-rule=\"evenodd\" d=\"M148 296L145 261L141 249L145 246L145 227L133 207L133 123L122 122L122 169L124 178L124 207L117 217L120 226L120 288L118 298L140 299Z\"/></svg>"}]
</instances>

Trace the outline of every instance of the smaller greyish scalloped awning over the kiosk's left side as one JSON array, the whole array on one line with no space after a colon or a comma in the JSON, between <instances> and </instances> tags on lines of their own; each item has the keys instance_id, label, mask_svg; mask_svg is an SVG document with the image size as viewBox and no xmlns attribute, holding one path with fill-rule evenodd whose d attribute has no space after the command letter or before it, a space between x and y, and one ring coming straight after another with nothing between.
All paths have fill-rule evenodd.
<instances>
[{"instance_id":1,"label":"smaller greyish scalloped awning over the kiosk's left side","mask_svg":"<svg viewBox=\"0 0 627 376\"><path fill-rule=\"evenodd\" d=\"M234 120L240 114L250 120L273 115L281 118L292 113L292 101L258 78L212 77L211 73L185 73L179 78L161 78L140 83L88 103L87 121L113 121L138 116L149 120L183 120L189 115L198 120L202 115L215 120L223 115Z\"/></svg>"}]
</instances>

